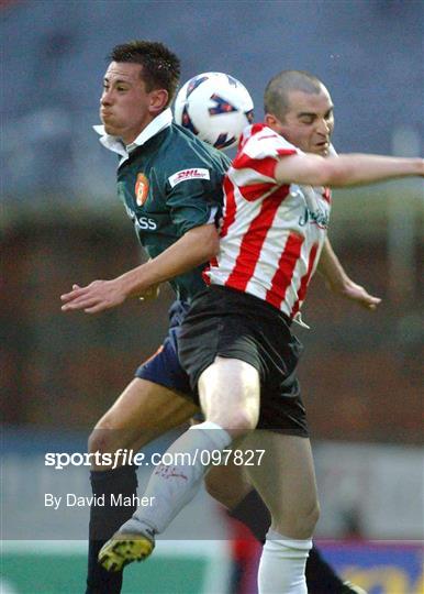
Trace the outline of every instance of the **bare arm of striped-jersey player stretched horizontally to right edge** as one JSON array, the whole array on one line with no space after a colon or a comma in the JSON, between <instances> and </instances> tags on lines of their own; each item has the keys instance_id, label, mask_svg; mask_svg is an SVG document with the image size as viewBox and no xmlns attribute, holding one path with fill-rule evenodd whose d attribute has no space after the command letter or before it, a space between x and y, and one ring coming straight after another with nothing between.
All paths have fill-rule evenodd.
<instances>
[{"instance_id":1,"label":"bare arm of striped-jersey player stretched horizontally to right edge","mask_svg":"<svg viewBox=\"0 0 424 594\"><path fill-rule=\"evenodd\" d=\"M424 160L362 154L324 158L312 154L295 154L281 157L275 175L280 184L350 187L397 177L424 177Z\"/></svg>"}]
</instances>

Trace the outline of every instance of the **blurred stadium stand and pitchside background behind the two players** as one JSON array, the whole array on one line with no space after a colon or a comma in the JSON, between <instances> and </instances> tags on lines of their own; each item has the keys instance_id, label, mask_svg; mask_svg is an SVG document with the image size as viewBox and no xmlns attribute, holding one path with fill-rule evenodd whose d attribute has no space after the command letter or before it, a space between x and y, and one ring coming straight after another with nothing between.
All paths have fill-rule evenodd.
<instances>
[{"instance_id":1,"label":"blurred stadium stand and pitchside background behind the two players","mask_svg":"<svg viewBox=\"0 0 424 594\"><path fill-rule=\"evenodd\" d=\"M115 158L91 129L107 55L131 38L163 41L181 58L181 82L201 72L231 74L249 89L258 120L269 78L305 69L332 94L338 152L422 155L424 3L1 0L0 18L2 591L77 592L87 509L53 519L43 497L56 481L64 493L78 482L88 494L87 473L45 476L43 455L85 451L92 425L160 344L172 299L164 287L157 301L98 317L60 312L59 295L72 283L113 277L143 258L115 197ZM317 536L336 539L323 541L328 558L371 594L422 591L423 228L420 180L334 193L335 251L383 301L373 314L360 310L316 277L304 308L312 330L299 331L323 508ZM152 561L149 593L188 594L187 580L178 582L185 562L190 592L230 592L235 527L205 494L190 517L219 526L209 538L223 539L225 554L207 531L194 547L188 535L182 548L165 543ZM37 538L43 546L29 542ZM67 538L75 541L62 546L58 563L51 541ZM182 537L177 528L169 538ZM34 549L45 556L36 571L27 569ZM53 573L45 571L52 554ZM164 560L176 563L168 581L160 581ZM124 592L136 584L129 579ZM238 587L255 592L252 580Z\"/></svg>"}]
</instances>

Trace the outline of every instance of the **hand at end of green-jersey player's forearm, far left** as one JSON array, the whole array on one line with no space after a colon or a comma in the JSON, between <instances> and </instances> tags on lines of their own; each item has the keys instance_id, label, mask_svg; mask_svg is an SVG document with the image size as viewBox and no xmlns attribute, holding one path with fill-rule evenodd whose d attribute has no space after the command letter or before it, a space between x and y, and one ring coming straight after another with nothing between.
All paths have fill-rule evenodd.
<instances>
[{"instance_id":1,"label":"hand at end of green-jersey player's forearm, far left","mask_svg":"<svg viewBox=\"0 0 424 594\"><path fill-rule=\"evenodd\" d=\"M86 314L99 314L121 305L126 298L120 283L114 280L94 280L87 287L72 285L72 290L60 296L62 311L83 309Z\"/></svg>"}]
</instances>

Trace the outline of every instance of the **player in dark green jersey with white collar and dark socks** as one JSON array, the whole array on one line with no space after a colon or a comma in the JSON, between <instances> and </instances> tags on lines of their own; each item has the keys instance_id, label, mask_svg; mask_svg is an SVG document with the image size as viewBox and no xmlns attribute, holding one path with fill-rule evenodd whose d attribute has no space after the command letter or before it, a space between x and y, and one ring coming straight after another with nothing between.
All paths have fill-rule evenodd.
<instances>
[{"instance_id":1,"label":"player in dark green jersey with white collar and dark socks","mask_svg":"<svg viewBox=\"0 0 424 594\"><path fill-rule=\"evenodd\" d=\"M189 302L204 287L202 266L217 249L215 221L230 163L172 123L169 105L178 85L179 61L163 44L120 45L111 59L101 97L103 127L98 132L104 146L120 157L119 195L150 260L118 278L94 280L87 287L74 285L63 296L63 309L97 314L129 297L154 293L165 280L171 283L177 301L161 351L138 367L136 377L99 420L89 440L92 453L113 453L120 448L136 451L198 410L181 396L191 389L178 362L176 336ZM330 245L327 256L332 264L336 262ZM337 263L323 271L332 283L342 279L339 293L371 309L378 304L362 287L343 277ZM98 496L132 497L135 466L93 465L91 484ZM104 541L134 510L131 506L91 508L88 593L120 592L122 573L105 571L97 558Z\"/></svg>"}]
</instances>

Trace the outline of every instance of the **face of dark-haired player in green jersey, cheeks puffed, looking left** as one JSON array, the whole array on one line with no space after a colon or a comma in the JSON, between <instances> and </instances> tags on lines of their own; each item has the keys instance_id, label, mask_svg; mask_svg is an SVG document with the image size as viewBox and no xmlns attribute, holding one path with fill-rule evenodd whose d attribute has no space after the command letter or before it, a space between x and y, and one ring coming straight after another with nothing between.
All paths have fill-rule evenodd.
<instances>
[{"instance_id":1,"label":"face of dark-haired player in green jersey, cheeks puffed, looking left","mask_svg":"<svg viewBox=\"0 0 424 594\"><path fill-rule=\"evenodd\" d=\"M108 134L133 142L153 120L154 95L147 92L140 64L112 62L104 75L100 118Z\"/></svg>"}]
</instances>

